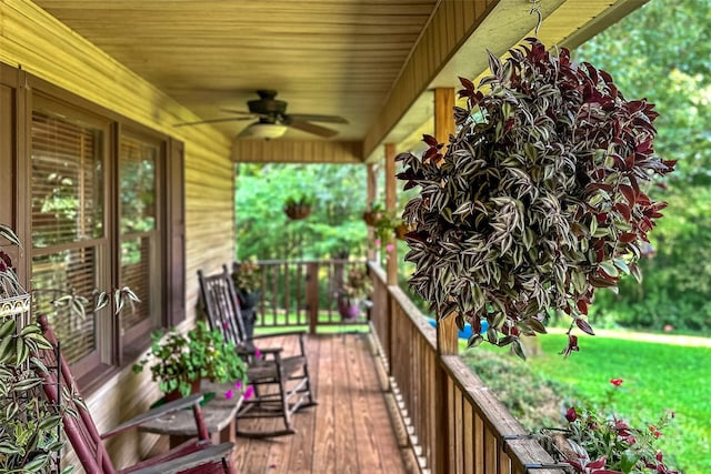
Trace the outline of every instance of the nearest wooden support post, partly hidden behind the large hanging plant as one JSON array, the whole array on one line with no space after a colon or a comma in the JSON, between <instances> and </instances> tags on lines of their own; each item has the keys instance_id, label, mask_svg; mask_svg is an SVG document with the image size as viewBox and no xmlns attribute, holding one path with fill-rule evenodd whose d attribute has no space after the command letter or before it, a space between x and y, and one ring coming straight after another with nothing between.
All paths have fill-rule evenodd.
<instances>
[{"instance_id":1,"label":"nearest wooden support post, partly hidden behind the large hanging plant","mask_svg":"<svg viewBox=\"0 0 711 474\"><path fill-rule=\"evenodd\" d=\"M454 89L434 89L434 138L444 144L449 144L449 135L454 134ZM445 149L442 150L444 152ZM438 315L439 316L439 315ZM439 355L451 355L459 352L458 329L454 315L437 322L437 352ZM450 383L448 374L442 364L435 372L437 386L437 465L435 473L454 472L457 460L453 458L452 447L454 445L454 407L450 406L453 399L450 396Z\"/></svg>"}]
</instances>

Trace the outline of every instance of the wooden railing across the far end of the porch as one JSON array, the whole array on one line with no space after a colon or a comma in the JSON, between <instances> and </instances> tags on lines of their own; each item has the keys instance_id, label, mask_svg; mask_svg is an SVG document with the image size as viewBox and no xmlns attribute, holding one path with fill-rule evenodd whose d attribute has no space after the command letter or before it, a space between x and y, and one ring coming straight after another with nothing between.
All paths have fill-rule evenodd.
<instances>
[{"instance_id":1,"label":"wooden railing across the far end of the porch","mask_svg":"<svg viewBox=\"0 0 711 474\"><path fill-rule=\"evenodd\" d=\"M365 261L320 260L284 261L263 260L261 268L261 295L257 305L257 327L309 326L314 333L318 326L363 324L361 317L344 320L338 310L338 293L348 271Z\"/></svg>"}]
</instances>

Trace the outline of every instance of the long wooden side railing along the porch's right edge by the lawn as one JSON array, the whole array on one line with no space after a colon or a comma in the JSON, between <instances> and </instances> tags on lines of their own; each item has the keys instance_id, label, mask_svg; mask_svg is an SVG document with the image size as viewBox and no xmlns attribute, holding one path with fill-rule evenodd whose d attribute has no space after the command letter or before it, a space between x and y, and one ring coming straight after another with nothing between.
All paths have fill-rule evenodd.
<instances>
[{"instance_id":1,"label":"long wooden side railing along the porch's right edge by the lawn","mask_svg":"<svg viewBox=\"0 0 711 474\"><path fill-rule=\"evenodd\" d=\"M377 265L371 325L420 467L434 473L563 474L458 355L438 350L437 331Z\"/></svg>"}]
</instances>

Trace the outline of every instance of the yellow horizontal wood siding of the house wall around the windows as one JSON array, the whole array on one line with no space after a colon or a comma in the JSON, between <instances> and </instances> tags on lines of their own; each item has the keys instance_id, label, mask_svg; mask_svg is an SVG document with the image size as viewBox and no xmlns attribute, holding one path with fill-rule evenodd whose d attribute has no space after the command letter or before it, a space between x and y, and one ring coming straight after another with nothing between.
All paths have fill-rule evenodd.
<instances>
[{"instance_id":1,"label":"yellow horizontal wood siding of the house wall around the windows","mask_svg":"<svg viewBox=\"0 0 711 474\"><path fill-rule=\"evenodd\" d=\"M173 122L197 117L32 2L0 1L0 61L184 142L186 309L188 320L193 319L197 270L217 271L233 259L234 172L229 141L212 128L173 129ZM143 411L157 394L148 376L128 369L88 403L104 431ZM124 465L138 458L144 443L126 437L111 446L117 464Z\"/></svg>"}]
</instances>

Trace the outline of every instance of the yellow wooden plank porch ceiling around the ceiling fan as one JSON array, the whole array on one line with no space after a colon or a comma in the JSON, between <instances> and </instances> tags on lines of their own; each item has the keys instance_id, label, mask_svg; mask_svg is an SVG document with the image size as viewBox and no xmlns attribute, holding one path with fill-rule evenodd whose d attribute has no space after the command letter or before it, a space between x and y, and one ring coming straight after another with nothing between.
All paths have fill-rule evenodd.
<instances>
[{"instance_id":1,"label":"yellow wooden plank porch ceiling around the ceiling fan","mask_svg":"<svg viewBox=\"0 0 711 474\"><path fill-rule=\"evenodd\" d=\"M545 19L539 37L545 41L548 34L549 44L584 41L644 1L539 0ZM503 53L537 21L531 0L34 2L198 118L231 117L222 109L246 111L258 89L274 89L288 112L347 118L347 125L323 125L338 130L333 141L364 143L365 159L383 140L407 141L427 123L427 89L458 87L457 75L478 75L485 49ZM467 20L467 11L484 21ZM440 31L450 37L441 41L448 50L423 71L422 85L412 85L407 100L397 99L425 33L452 24L462 27L464 38ZM216 127L232 138L249 123L197 127ZM284 140L319 139L290 130Z\"/></svg>"}]
</instances>

